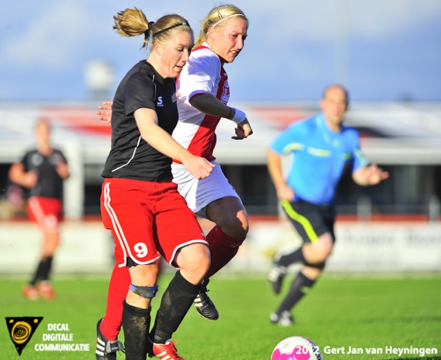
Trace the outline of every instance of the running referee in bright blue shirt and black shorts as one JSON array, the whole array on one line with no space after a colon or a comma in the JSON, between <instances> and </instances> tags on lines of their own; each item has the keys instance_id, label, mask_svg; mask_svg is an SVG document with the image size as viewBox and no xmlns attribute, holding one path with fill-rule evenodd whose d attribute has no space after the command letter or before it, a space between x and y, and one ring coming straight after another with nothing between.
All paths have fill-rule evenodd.
<instances>
[{"instance_id":1,"label":"running referee in bright blue shirt and black shorts","mask_svg":"<svg viewBox=\"0 0 441 360\"><path fill-rule=\"evenodd\" d=\"M351 166L353 181L360 186L376 185L389 177L376 165L369 165L360 151L358 132L342 124L348 103L345 88L327 86L320 114L291 124L267 150L267 166L277 197L303 241L298 250L274 257L269 270L271 289L279 294L289 266L304 265L285 299L270 315L271 321L280 326L293 323L291 309L314 286L332 252L336 241L334 199L345 169ZM281 157L290 153L294 153L293 162L285 177Z\"/></svg>"}]
</instances>

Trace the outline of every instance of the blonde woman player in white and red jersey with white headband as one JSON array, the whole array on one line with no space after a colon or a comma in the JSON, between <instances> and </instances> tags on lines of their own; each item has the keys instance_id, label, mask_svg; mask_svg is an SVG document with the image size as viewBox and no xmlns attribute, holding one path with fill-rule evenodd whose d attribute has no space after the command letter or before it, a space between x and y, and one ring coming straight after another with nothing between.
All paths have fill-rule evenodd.
<instances>
[{"instance_id":1,"label":"blonde woman player in white and red jersey with white headband","mask_svg":"<svg viewBox=\"0 0 441 360\"><path fill-rule=\"evenodd\" d=\"M236 123L236 136L245 139L252 134L244 112L227 106L229 85L227 72L223 66L232 63L242 51L247 37L248 19L242 10L233 5L213 8L202 21L201 33L192 50L189 62L176 83L179 121L173 137L192 154L204 157L216 167L212 174L197 179L178 159L172 164L173 181L187 204L198 217L209 219L216 226L207 234L212 264L205 277L203 288L194 300L196 310L209 320L218 319L218 311L207 296L209 277L225 266L238 252L248 232L248 217L238 194L223 174L213 156L216 146L216 126L221 118ZM99 108L99 119L110 121L111 102ZM121 283L127 279L121 274ZM115 288L116 289L116 288ZM121 294L114 292L114 299ZM110 326L113 321L118 330L117 313L106 319Z\"/></svg>"}]
</instances>

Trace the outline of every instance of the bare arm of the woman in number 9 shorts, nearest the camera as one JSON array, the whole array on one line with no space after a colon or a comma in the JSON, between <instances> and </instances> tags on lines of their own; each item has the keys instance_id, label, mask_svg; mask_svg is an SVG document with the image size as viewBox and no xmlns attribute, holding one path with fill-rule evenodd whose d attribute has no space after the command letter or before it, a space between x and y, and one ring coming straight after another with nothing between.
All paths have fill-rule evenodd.
<instances>
[{"instance_id":1,"label":"bare arm of the woman in number 9 shorts, nearest the camera","mask_svg":"<svg viewBox=\"0 0 441 360\"><path fill-rule=\"evenodd\" d=\"M179 145L168 132L158 126L158 117L154 110L140 108L134 112L134 117L141 137L167 157L183 163L196 179L203 179L212 172L214 168L212 163L203 157L193 155Z\"/></svg>"}]
</instances>

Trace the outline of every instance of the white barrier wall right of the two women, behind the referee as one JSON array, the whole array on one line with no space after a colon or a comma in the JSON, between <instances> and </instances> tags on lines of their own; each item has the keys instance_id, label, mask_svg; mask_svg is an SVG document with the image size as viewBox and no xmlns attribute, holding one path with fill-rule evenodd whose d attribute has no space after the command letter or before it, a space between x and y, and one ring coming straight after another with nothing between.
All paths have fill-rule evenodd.
<instances>
[{"instance_id":1,"label":"white barrier wall right of the two women, behind the referee","mask_svg":"<svg viewBox=\"0 0 441 360\"><path fill-rule=\"evenodd\" d=\"M274 252L289 252L300 244L288 221L258 222L250 227L234 263L252 270L267 269ZM338 272L441 272L440 223L336 223L336 246L327 271ZM237 259L238 260L238 259ZM233 264L232 264L233 267Z\"/></svg>"}]
</instances>

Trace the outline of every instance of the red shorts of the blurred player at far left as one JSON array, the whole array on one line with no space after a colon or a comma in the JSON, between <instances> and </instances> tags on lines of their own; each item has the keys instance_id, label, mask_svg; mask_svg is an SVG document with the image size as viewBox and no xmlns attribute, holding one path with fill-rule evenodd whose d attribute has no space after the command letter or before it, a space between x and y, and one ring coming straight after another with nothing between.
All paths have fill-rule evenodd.
<instances>
[{"instance_id":1,"label":"red shorts of the blurred player at far left","mask_svg":"<svg viewBox=\"0 0 441 360\"><path fill-rule=\"evenodd\" d=\"M26 205L28 217L43 231L56 231L63 214L63 203L60 199L50 197L30 197Z\"/></svg>"}]
</instances>

